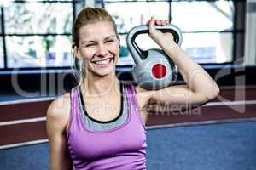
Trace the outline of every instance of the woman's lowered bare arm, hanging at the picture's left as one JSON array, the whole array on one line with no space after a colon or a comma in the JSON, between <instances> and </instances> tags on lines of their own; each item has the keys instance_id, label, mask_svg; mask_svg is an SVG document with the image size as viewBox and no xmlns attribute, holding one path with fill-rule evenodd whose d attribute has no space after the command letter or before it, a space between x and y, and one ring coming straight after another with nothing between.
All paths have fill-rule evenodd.
<instances>
[{"instance_id":1,"label":"woman's lowered bare arm, hanging at the picture's left","mask_svg":"<svg viewBox=\"0 0 256 170\"><path fill-rule=\"evenodd\" d=\"M70 106L67 97L53 101L47 110L47 134L50 149L50 170L72 170L72 161L67 150L66 127ZM68 108L67 108L68 107Z\"/></svg>"}]
</instances>

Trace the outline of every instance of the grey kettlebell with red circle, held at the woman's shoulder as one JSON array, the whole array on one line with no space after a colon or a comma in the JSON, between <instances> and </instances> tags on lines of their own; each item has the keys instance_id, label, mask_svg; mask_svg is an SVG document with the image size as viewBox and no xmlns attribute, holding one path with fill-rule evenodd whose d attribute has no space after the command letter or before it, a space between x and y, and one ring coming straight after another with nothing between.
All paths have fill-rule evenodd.
<instances>
[{"instance_id":1,"label":"grey kettlebell with red circle, held at the woman's shoulder","mask_svg":"<svg viewBox=\"0 0 256 170\"><path fill-rule=\"evenodd\" d=\"M182 43L182 32L177 26L155 26L161 32L170 32L178 46ZM176 82L177 66L167 54L158 48L142 50L137 46L135 38L139 34L149 33L148 26L135 26L126 37L127 48L130 50L135 65L132 68L134 81L142 88L155 90L166 88Z\"/></svg>"}]
</instances>

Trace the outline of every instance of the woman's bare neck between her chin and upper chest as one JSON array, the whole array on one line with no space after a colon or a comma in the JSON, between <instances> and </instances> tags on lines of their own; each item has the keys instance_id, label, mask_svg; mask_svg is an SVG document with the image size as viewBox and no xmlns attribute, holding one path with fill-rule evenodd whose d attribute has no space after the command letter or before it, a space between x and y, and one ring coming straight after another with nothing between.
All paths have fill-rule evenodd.
<instances>
[{"instance_id":1,"label":"woman's bare neck between her chin and upper chest","mask_svg":"<svg viewBox=\"0 0 256 170\"><path fill-rule=\"evenodd\" d=\"M96 77L89 74L84 78L81 88L88 97L106 95L109 97L109 94L119 92L119 80L115 73L111 73L106 77Z\"/></svg>"}]
</instances>

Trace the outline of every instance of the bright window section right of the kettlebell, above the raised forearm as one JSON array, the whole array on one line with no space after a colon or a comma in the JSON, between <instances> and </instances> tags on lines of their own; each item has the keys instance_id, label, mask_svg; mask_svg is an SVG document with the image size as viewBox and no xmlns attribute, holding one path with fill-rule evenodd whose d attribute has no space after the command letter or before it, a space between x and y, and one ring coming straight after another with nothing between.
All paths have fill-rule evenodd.
<instances>
[{"instance_id":1,"label":"bright window section right of the kettlebell, above the raised forearm","mask_svg":"<svg viewBox=\"0 0 256 170\"><path fill-rule=\"evenodd\" d=\"M232 61L234 3L172 2L172 23L183 33L183 49L200 63ZM186 14L183 14L186 11Z\"/></svg>"}]
</instances>

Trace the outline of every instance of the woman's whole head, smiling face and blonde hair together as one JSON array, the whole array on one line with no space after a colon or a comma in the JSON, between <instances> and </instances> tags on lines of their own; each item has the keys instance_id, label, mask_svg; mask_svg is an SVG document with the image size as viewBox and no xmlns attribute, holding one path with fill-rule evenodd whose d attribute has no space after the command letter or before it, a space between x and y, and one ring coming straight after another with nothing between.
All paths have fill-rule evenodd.
<instances>
[{"instance_id":1,"label":"woman's whole head, smiling face and blonde hair together","mask_svg":"<svg viewBox=\"0 0 256 170\"><path fill-rule=\"evenodd\" d=\"M74 54L78 59L83 59L79 84L84 81L85 69L95 72L97 70L93 68L105 68L105 71L107 69L106 72L108 72L113 64L118 61L119 34L113 18L107 11L96 11L91 8L82 10L77 19L74 20L72 33ZM110 50L108 55L106 55L106 48ZM96 53L100 55L93 58ZM99 65L99 62L105 59L110 59L109 65ZM86 72L88 74L88 71ZM101 73L98 72L98 74ZM102 71L102 74L104 74L104 71Z\"/></svg>"}]
</instances>

